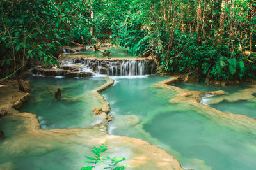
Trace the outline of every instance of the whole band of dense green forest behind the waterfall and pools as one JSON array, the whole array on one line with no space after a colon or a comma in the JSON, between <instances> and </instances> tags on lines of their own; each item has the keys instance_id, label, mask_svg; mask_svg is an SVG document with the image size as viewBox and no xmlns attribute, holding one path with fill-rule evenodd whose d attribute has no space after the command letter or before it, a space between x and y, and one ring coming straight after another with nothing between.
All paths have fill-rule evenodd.
<instances>
[{"instance_id":1,"label":"whole band of dense green forest behind the waterfall and pools","mask_svg":"<svg viewBox=\"0 0 256 170\"><path fill-rule=\"evenodd\" d=\"M38 60L56 61L71 42L109 41L159 71L210 80L256 77L254 0L1 0L1 80Z\"/></svg>"}]
</instances>

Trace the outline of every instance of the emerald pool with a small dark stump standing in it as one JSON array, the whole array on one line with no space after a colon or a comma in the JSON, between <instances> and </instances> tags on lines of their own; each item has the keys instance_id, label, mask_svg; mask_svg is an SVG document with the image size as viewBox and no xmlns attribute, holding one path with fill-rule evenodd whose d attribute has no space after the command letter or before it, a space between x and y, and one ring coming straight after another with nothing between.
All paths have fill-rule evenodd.
<instances>
[{"instance_id":1,"label":"emerald pool with a small dark stump standing in it","mask_svg":"<svg viewBox=\"0 0 256 170\"><path fill-rule=\"evenodd\" d=\"M97 97L90 92L103 85L104 78L47 78L32 76L31 100L20 108L20 112L38 115L43 129L88 127L102 122L93 113L101 107ZM54 99L58 87L61 99Z\"/></svg>"}]
</instances>

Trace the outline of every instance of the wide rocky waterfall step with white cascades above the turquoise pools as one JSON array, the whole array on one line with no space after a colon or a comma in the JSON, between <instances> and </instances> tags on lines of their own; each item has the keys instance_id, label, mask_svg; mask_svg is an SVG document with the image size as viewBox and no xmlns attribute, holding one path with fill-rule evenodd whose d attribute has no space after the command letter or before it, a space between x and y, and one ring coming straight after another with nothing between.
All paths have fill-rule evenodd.
<instances>
[{"instance_id":1,"label":"wide rocky waterfall step with white cascades above the turquoise pools","mask_svg":"<svg viewBox=\"0 0 256 170\"><path fill-rule=\"evenodd\" d=\"M108 76L143 76L154 74L156 66L152 59L90 59L61 60L60 68L35 67L33 74L42 76L84 77L95 74Z\"/></svg>"}]
</instances>

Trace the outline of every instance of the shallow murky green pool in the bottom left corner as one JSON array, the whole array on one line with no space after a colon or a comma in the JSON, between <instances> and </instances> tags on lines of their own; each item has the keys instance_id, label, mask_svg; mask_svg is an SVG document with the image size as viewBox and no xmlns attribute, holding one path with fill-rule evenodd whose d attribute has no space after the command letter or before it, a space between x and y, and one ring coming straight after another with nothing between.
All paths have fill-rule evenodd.
<instances>
[{"instance_id":1,"label":"shallow murky green pool in the bottom left corner","mask_svg":"<svg viewBox=\"0 0 256 170\"><path fill-rule=\"evenodd\" d=\"M0 140L0 169L6 162L19 170L77 170L84 166L84 155L90 155L91 149L86 144L68 143L65 138L58 141L25 134L24 122L26 118L22 117L1 118L5 138Z\"/></svg>"}]
</instances>

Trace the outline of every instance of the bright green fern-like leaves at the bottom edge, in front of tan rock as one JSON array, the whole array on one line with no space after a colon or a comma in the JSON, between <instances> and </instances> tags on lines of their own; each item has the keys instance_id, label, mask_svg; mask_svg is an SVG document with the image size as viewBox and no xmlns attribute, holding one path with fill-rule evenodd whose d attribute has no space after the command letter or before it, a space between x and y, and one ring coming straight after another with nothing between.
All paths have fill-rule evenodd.
<instances>
[{"instance_id":1,"label":"bright green fern-like leaves at the bottom edge, in front of tan rock","mask_svg":"<svg viewBox=\"0 0 256 170\"><path fill-rule=\"evenodd\" d=\"M83 162L90 164L89 166L84 166L80 170L90 170L90 169L95 169L97 164L103 164L106 165L104 169L113 169L113 170L122 170L125 169L125 164L118 166L118 164L122 161L125 160L125 158L120 158L120 157L102 157L101 154L104 153L108 149L106 144L102 144L99 147L94 147L92 152L93 152L93 157L86 157L87 160L83 160Z\"/></svg>"}]
</instances>

